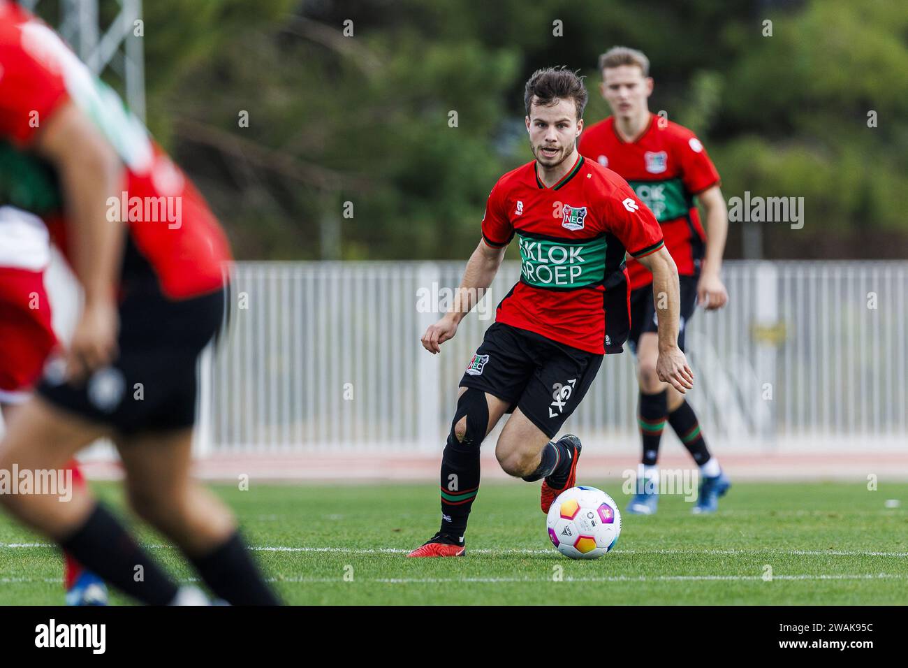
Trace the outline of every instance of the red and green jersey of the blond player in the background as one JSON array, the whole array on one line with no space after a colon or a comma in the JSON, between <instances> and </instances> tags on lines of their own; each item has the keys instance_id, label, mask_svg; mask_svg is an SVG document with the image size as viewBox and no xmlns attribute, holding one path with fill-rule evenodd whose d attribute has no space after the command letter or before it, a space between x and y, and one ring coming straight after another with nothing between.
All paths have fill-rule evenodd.
<instances>
[{"instance_id":1,"label":"red and green jersey of the blond player in the background","mask_svg":"<svg viewBox=\"0 0 908 668\"><path fill-rule=\"evenodd\" d=\"M716 166L696 135L686 127L649 117L643 135L626 142L618 136L615 118L590 125L580 135L580 153L627 179L662 225L666 248L678 274L698 274L706 250L695 196L719 183ZM648 285L653 277L633 259L627 261L631 289Z\"/></svg>"}]
</instances>

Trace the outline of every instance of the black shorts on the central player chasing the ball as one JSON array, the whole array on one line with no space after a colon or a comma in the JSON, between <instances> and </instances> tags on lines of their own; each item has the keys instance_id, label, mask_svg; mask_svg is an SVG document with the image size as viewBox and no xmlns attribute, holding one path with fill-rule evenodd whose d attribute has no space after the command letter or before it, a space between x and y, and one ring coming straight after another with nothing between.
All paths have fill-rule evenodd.
<instances>
[{"instance_id":1,"label":"black shorts on the central player chasing the ball","mask_svg":"<svg viewBox=\"0 0 908 668\"><path fill-rule=\"evenodd\" d=\"M509 402L553 438L587 394L603 355L559 344L542 334L494 323L460 387L475 387Z\"/></svg>"}]
</instances>

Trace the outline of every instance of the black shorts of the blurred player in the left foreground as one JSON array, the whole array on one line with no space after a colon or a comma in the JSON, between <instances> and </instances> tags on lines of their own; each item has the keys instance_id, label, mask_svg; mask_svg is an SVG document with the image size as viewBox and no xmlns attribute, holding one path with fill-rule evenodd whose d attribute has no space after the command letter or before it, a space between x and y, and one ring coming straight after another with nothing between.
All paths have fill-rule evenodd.
<instances>
[{"instance_id":1,"label":"black shorts of the blurred player in the left foreground","mask_svg":"<svg viewBox=\"0 0 908 668\"><path fill-rule=\"evenodd\" d=\"M157 286L133 286L119 307L119 354L83 383L62 379L52 360L36 388L51 404L120 434L167 431L195 423L196 362L220 332L225 289L190 299L166 298Z\"/></svg>"}]
</instances>

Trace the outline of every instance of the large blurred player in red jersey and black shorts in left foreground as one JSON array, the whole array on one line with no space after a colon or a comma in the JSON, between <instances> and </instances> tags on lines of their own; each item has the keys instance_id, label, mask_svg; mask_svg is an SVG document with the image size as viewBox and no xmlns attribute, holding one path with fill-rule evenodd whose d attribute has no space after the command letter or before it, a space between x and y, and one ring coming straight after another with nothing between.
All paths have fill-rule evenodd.
<instances>
[{"instance_id":1,"label":"large blurred player in red jersey and black shorts in left foreground","mask_svg":"<svg viewBox=\"0 0 908 668\"><path fill-rule=\"evenodd\" d=\"M49 27L0 0L0 204L39 215L84 289L65 360L14 415L0 469L116 444L133 509L228 603L276 603L230 511L189 474L198 354L220 329L229 245L201 194ZM44 492L44 491L43 491ZM87 490L6 509L143 603L203 603ZM143 577L136 577L141 567Z\"/></svg>"}]
</instances>

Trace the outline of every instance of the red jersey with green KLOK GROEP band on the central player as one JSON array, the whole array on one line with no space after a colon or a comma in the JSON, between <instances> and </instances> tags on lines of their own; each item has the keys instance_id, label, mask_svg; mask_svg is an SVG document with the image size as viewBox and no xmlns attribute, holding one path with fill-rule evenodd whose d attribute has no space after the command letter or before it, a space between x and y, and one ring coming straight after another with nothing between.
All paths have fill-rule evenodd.
<instances>
[{"instance_id":1,"label":"red jersey with green KLOK GROEP band on the central player","mask_svg":"<svg viewBox=\"0 0 908 668\"><path fill-rule=\"evenodd\" d=\"M515 235L520 281L496 320L589 353L621 352L630 322L625 254L663 245L656 218L627 182L582 156L550 188L535 160L520 166L498 179L482 219L490 246Z\"/></svg>"}]
</instances>

